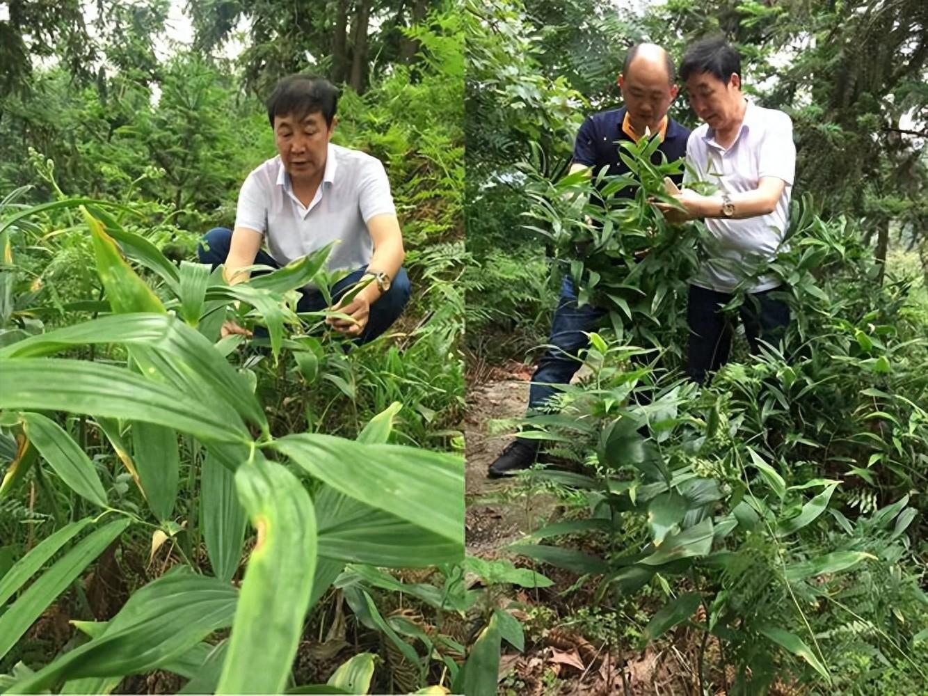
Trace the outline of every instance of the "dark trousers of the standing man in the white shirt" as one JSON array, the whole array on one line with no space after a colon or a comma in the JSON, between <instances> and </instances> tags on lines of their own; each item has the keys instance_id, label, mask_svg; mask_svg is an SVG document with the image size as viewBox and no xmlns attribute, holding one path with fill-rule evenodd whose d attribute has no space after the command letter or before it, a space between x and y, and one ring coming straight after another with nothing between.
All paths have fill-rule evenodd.
<instances>
[{"instance_id":1,"label":"dark trousers of the standing man in the white shirt","mask_svg":"<svg viewBox=\"0 0 928 696\"><path fill-rule=\"evenodd\" d=\"M770 297L780 288L754 292L744 298L739 315L744 324L752 353L760 350L760 342L776 345L790 323L790 307ZM690 285L687 323L690 325L690 346L687 373L702 384L708 372L715 372L728 362L731 352L732 326L719 308L731 302L727 292L706 290Z\"/></svg>"}]
</instances>

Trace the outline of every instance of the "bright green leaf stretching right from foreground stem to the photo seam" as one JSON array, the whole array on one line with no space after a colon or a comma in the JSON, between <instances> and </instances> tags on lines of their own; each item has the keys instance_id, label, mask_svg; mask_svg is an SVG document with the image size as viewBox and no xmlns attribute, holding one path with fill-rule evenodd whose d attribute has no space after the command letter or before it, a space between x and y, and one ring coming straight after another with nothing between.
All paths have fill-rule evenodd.
<instances>
[{"instance_id":1,"label":"bright green leaf stretching right from foreground stem to the photo seam","mask_svg":"<svg viewBox=\"0 0 928 696\"><path fill-rule=\"evenodd\" d=\"M346 496L464 547L464 467L457 457L331 435L287 435L270 446Z\"/></svg>"}]
</instances>

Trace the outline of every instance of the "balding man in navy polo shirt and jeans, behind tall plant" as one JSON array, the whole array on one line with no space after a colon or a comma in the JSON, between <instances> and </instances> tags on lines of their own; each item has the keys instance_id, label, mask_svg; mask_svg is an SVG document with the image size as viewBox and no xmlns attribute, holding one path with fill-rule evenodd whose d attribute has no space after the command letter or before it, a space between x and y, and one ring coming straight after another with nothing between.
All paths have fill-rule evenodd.
<instances>
[{"instance_id":1,"label":"balding man in navy polo shirt and jeans, behind tall plant","mask_svg":"<svg viewBox=\"0 0 928 696\"><path fill-rule=\"evenodd\" d=\"M661 153L667 161L684 157L690 131L667 116L667 109L677 97L674 61L659 45L638 44L625 57L618 84L625 107L600 111L586 118L574 143L574 163L571 173L586 170L594 174L608 166L608 174L627 174L628 167L619 158L619 141L637 141L646 134L659 133L662 138L655 163ZM682 183L682 174L677 177ZM635 188L625 187L617 196L634 197ZM598 200L594 199L594 200ZM585 304L577 306L576 289L571 277L561 284L561 298L551 322L549 343L553 346L542 357L532 376L529 392L529 413L543 411L548 399L557 392L555 384L569 383L580 367L577 354L586 349L589 340L585 332L597 328L606 311ZM496 461L490 465L489 476L496 478L526 469L535 462L538 441L516 437Z\"/></svg>"}]
</instances>

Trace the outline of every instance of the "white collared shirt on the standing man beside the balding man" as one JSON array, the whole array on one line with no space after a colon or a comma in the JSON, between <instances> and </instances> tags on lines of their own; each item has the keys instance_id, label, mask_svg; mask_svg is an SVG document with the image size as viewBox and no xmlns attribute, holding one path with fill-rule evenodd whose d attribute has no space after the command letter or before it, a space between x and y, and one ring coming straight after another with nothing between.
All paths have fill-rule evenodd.
<instances>
[{"instance_id":1,"label":"white collared shirt on the standing man beside the balding man","mask_svg":"<svg viewBox=\"0 0 928 696\"><path fill-rule=\"evenodd\" d=\"M771 261L781 251L789 226L796 169L793 122L782 111L749 102L741 129L728 148L715 141L715 131L707 123L694 130L687 141L687 163L695 170L695 180L716 184L720 193L753 191L765 176L786 182L772 213L741 220L705 219L715 243L705 245L709 258L690 282L709 290L733 292L754 275L758 262ZM688 172L684 183L693 180ZM779 285L779 278L761 275L747 280L741 289L761 292Z\"/></svg>"}]
</instances>

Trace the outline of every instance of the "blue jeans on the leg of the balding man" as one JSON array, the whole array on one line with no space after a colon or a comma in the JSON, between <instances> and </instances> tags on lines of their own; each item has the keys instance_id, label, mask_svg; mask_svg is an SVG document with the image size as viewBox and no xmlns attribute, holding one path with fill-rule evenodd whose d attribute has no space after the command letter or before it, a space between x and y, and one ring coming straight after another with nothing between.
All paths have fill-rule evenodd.
<instances>
[{"instance_id":1,"label":"blue jeans on the leg of the balding man","mask_svg":"<svg viewBox=\"0 0 928 696\"><path fill-rule=\"evenodd\" d=\"M577 295L574 289L574 280L564 277L561 283L561 297L551 319L551 336L548 339L552 348L542 356L532 375L532 386L529 389L529 413L544 409L548 399L558 389L554 384L569 384L580 369L577 355L589 347L586 332L597 329L599 320L607 312L599 307L585 304L577 306Z\"/></svg>"}]
</instances>

